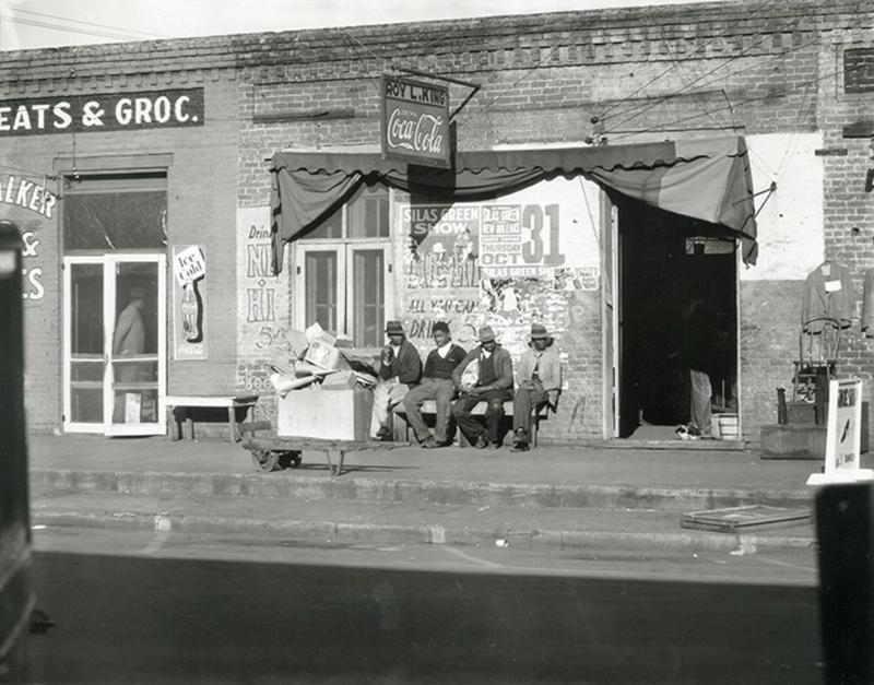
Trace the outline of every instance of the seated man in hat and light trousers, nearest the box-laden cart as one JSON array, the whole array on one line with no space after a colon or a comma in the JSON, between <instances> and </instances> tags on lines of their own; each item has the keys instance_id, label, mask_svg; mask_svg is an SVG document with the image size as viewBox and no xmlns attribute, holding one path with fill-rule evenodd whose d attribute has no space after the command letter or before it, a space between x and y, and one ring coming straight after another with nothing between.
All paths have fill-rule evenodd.
<instances>
[{"instance_id":1,"label":"seated man in hat and light trousers, nearest the box-laden cart","mask_svg":"<svg viewBox=\"0 0 874 685\"><path fill-rule=\"evenodd\" d=\"M378 440L391 440L389 416L422 377L418 350L406 340L400 321L386 323L389 344L379 355L379 380L374 388L374 411L370 414L370 435Z\"/></svg>"}]
</instances>

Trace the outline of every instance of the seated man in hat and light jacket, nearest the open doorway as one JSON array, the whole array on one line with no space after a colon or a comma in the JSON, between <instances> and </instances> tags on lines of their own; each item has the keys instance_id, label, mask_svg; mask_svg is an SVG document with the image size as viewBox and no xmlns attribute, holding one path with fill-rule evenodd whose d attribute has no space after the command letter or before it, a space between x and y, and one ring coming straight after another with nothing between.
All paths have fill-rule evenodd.
<instances>
[{"instance_id":1,"label":"seated man in hat and light jacket, nearest the open doorway","mask_svg":"<svg viewBox=\"0 0 874 685\"><path fill-rule=\"evenodd\" d=\"M527 452L531 435L531 414L548 404L555 411L562 392L562 359L553 338L542 323L531 324L531 342L517 368L512 400L512 451Z\"/></svg>"}]
</instances>

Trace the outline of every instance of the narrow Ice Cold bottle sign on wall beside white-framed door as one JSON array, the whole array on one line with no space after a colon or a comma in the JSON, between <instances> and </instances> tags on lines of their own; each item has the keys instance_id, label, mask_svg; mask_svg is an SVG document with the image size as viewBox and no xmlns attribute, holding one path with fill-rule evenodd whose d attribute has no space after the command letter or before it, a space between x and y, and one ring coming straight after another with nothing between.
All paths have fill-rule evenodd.
<instances>
[{"instance_id":1,"label":"narrow Ice Cold bottle sign on wall beside white-framed door","mask_svg":"<svg viewBox=\"0 0 874 685\"><path fill-rule=\"evenodd\" d=\"M202 245L173 247L173 335L177 362L206 358L204 287L206 257Z\"/></svg>"}]
</instances>

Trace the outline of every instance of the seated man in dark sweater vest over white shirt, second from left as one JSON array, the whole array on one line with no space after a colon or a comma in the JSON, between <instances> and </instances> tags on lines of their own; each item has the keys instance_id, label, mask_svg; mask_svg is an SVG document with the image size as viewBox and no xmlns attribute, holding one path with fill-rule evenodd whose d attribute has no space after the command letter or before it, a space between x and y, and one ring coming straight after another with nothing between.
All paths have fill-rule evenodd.
<instances>
[{"instance_id":1,"label":"seated man in dark sweater vest over white shirt, second from left","mask_svg":"<svg viewBox=\"0 0 874 685\"><path fill-rule=\"evenodd\" d=\"M403 399L406 420L413 427L416 440L424 448L445 447L450 444L449 420L452 417L452 400L456 397L452 371L466 354L462 347L452 343L446 321L435 322L430 332L436 347L425 359L422 382L410 390ZM433 436L422 418L421 408L425 400L434 400L437 406Z\"/></svg>"}]
</instances>

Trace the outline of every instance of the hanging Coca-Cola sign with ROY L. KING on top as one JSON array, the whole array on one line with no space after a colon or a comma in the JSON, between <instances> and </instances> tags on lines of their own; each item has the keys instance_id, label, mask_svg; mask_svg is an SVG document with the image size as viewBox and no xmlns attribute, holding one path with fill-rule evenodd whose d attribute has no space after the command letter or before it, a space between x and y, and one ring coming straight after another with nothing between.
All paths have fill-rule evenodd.
<instances>
[{"instance_id":1,"label":"hanging Coca-Cola sign with ROY L. KING on top","mask_svg":"<svg viewBox=\"0 0 874 685\"><path fill-rule=\"evenodd\" d=\"M449 88L382 76L382 156L451 166Z\"/></svg>"}]
</instances>

